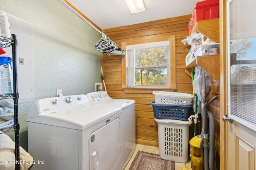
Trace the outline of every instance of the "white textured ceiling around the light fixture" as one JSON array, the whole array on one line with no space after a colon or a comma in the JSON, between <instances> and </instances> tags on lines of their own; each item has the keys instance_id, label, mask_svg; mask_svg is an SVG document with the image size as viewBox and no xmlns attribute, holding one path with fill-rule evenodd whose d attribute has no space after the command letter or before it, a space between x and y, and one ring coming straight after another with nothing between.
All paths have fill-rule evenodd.
<instances>
[{"instance_id":1,"label":"white textured ceiling around the light fixture","mask_svg":"<svg viewBox=\"0 0 256 170\"><path fill-rule=\"evenodd\" d=\"M124 0L68 0L100 29L192 14L202 0L143 0L146 10L131 14Z\"/></svg>"}]
</instances>

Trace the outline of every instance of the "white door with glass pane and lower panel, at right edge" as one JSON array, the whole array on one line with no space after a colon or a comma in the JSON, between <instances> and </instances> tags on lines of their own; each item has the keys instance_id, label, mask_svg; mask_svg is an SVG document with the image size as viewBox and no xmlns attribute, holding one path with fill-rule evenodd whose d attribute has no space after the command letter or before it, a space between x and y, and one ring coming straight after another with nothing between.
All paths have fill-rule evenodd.
<instances>
[{"instance_id":1,"label":"white door with glass pane and lower panel, at right edge","mask_svg":"<svg viewBox=\"0 0 256 170\"><path fill-rule=\"evenodd\" d=\"M227 169L255 170L256 0L228 0L227 21Z\"/></svg>"}]
</instances>

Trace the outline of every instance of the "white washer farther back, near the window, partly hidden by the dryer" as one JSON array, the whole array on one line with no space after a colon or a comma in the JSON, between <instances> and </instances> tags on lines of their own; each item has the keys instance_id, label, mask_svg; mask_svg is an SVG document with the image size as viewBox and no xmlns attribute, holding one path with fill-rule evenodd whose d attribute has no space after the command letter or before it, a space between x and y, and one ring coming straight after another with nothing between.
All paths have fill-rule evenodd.
<instances>
[{"instance_id":1,"label":"white washer farther back, near the window, partly hidden by the dryer","mask_svg":"<svg viewBox=\"0 0 256 170\"><path fill-rule=\"evenodd\" d=\"M86 94L91 104L103 106L118 106L121 113L121 157L122 169L129 162L136 147L135 127L135 101L128 99L112 99L106 91L91 92Z\"/></svg>"}]
</instances>

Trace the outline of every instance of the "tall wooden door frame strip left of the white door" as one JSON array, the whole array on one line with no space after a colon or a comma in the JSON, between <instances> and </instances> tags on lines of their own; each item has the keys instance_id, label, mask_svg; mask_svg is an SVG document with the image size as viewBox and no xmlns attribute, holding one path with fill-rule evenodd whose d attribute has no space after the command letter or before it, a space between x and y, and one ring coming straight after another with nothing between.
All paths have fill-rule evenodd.
<instances>
[{"instance_id":1,"label":"tall wooden door frame strip left of the white door","mask_svg":"<svg viewBox=\"0 0 256 170\"><path fill-rule=\"evenodd\" d=\"M227 169L227 123L222 116L228 113L227 72L227 0L220 0L220 170Z\"/></svg>"}]
</instances>

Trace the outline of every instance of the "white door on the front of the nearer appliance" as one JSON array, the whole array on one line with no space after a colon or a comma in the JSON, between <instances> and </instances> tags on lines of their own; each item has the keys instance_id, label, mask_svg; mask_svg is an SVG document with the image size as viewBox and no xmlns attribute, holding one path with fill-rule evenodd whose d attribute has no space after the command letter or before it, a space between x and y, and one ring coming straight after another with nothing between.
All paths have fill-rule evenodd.
<instances>
[{"instance_id":1,"label":"white door on the front of the nearer appliance","mask_svg":"<svg viewBox=\"0 0 256 170\"><path fill-rule=\"evenodd\" d=\"M90 170L112 168L118 162L120 145L119 118L94 131L89 137Z\"/></svg>"}]
</instances>

